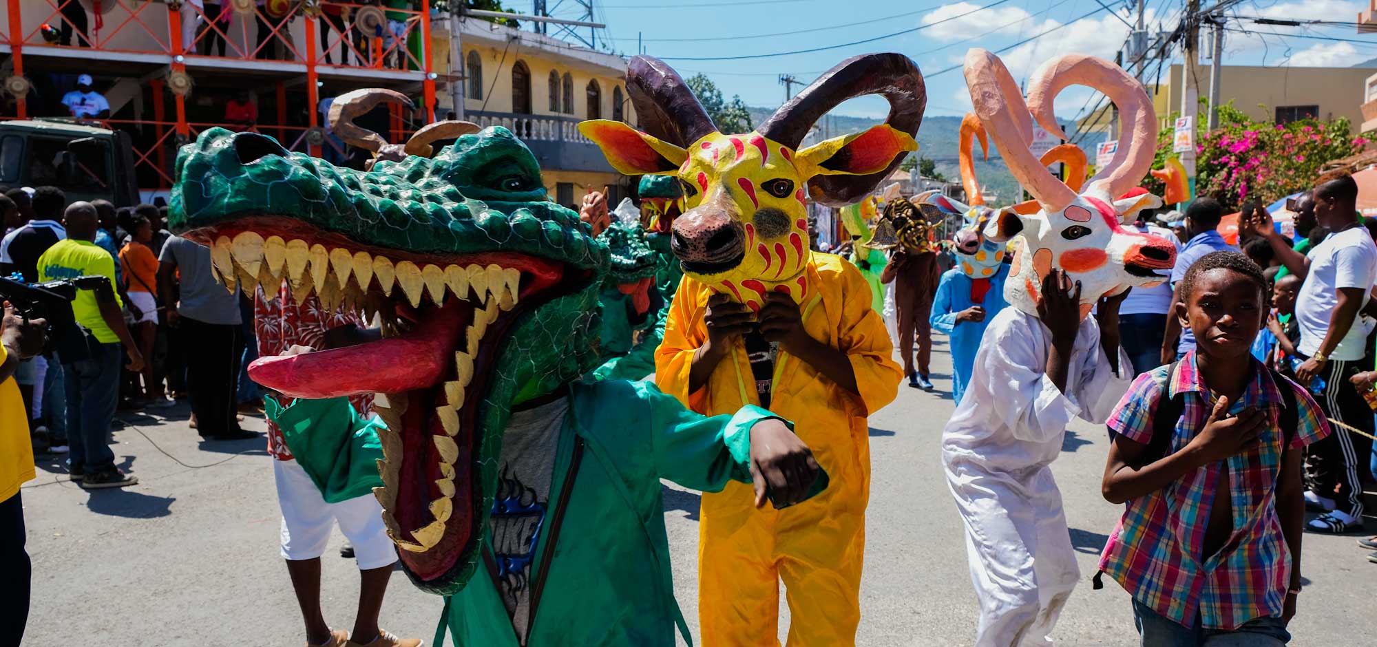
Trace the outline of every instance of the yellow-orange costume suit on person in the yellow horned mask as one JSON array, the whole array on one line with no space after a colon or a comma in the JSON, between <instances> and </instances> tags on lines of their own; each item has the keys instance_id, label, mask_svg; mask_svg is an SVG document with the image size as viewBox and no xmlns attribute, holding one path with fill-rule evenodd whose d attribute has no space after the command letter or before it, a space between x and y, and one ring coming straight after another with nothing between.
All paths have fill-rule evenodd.
<instances>
[{"instance_id":1,"label":"yellow-orange costume suit on person in the yellow horned mask","mask_svg":"<svg viewBox=\"0 0 1377 647\"><path fill-rule=\"evenodd\" d=\"M804 329L850 357L861 395L779 351L770 409L796 421L795 432L812 449L832 483L821 496L782 511L755 509L745 483L704 493L698 617L702 643L709 647L778 644L778 578L784 580L792 617L790 647L855 643L870 494L866 416L894 399L901 370L861 271L839 256L812 253L804 273ZM690 362L708 339L702 318L709 296L711 288L683 278L655 352L655 381L698 413L759 405L739 340L708 384L688 392Z\"/></svg>"}]
</instances>

